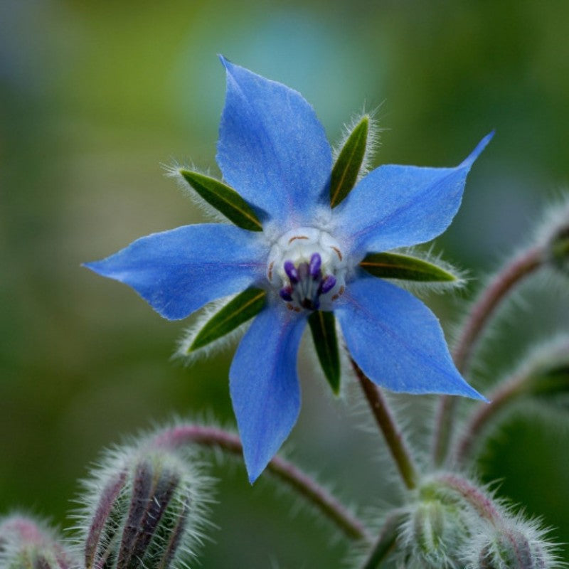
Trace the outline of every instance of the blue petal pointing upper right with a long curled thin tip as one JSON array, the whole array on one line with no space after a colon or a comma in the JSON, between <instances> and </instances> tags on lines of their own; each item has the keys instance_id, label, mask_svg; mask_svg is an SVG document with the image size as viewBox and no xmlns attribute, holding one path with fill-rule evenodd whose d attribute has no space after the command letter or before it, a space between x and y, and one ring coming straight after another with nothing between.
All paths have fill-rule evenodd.
<instances>
[{"instance_id":1,"label":"blue petal pointing upper right with a long curled thin tip","mask_svg":"<svg viewBox=\"0 0 569 569\"><path fill-rule=\"evenodd\" d=\"M440 235L458 211L470 166L493 136L456 168L387 165L368 174L336 208L351 250L381 252Z\"/></svg>"}]
</instances>

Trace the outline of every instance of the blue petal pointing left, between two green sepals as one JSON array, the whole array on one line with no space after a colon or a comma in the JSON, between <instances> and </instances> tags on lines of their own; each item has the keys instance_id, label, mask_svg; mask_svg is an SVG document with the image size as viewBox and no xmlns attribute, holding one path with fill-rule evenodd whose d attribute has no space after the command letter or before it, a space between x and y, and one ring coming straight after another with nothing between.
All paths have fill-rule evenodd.
<instances>
[{"instance_id":1,"label":"blue petal pointing left, between two green sepals","mask_svg":"<svg viewBox=\"0 0 569 569\"><path fill-rule=\"evenodd\" d=\"M126 283L161 316L178 320L262 278L266 257L257 234L206 223L147 235L85 267Z\"/></svg>"}]
</instances>

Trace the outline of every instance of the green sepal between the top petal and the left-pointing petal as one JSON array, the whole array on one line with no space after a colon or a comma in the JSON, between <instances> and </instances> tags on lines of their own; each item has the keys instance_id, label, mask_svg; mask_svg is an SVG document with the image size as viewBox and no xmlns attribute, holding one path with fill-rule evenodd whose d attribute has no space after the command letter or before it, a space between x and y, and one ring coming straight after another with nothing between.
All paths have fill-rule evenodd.
<instances>
[{"instance_id":1,"label":"green sepal between the top petal and the left-pointing petal","mask_svg":"<svg viewBox=\"0 0 569 569\"><path fill-rule=\"evenodd\" d=\"M206 200L238 227L262 231L262 225L251 206L233 189L215 178L180 169L181 176Z\"/></svg>"}]
</instances>

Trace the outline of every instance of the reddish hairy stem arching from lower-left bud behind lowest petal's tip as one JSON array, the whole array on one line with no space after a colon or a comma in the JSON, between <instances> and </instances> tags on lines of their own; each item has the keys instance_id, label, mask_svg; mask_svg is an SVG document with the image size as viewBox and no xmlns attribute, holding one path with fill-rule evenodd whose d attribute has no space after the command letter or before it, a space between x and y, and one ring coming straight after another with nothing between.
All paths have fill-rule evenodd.
<instances>
[{"instance_id":1,"label":"reddish hairy stem arching from lower-left bud behind lowest petal's tip","mask_svg":"<svg viewBox=\"0 0 569 569\"><path fill-rule=\"evenodd\" d=\"M241 455L243 446L237 435L216 427L202 425L178 425L164 430L154 439L154 444L161 447L180 447L188 443L203 445L204 447L217 447L230 454ZM371 542L363 523L356 519L344 505L314 479L300 471L294 464L280 457L274 457L267 465L267 472L288 484L300 495L312 502L322 514L325 514L346 536L354 540Z\"/></svg>"}]
</instances>

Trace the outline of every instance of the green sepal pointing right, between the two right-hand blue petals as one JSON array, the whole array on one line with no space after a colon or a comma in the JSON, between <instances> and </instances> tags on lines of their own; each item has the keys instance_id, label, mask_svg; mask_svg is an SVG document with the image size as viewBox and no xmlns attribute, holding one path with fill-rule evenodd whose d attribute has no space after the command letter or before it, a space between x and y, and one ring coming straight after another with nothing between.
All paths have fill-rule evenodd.
<instances>
[{"instance_id":1,"label":"green sepal pointing right, between the two right-hand blue petals","mask_svg":"<svg viewBox=\"0 0 569 569\"><path fill-rule=\"evenodd\" d=\"M422 282L452 282L458 280L432 262L411 255L398 253L368 253L360 266L374 277L382 279L402 279Z\"/></svg>"}]
</instances>

